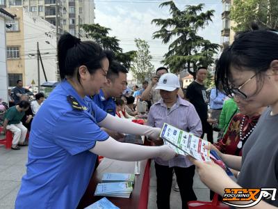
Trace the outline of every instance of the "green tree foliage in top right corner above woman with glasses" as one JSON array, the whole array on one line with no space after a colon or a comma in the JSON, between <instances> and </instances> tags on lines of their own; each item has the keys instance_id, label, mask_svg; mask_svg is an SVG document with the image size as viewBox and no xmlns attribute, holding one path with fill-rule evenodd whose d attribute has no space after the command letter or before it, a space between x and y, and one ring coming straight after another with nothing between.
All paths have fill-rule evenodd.
<instances>
[{"instance_id":1,"label":"green tree foliage in top right corner above woman with glasses","mask_svg":"<svg viewBox=\"0 0 278 209\"><path fill-rule=\"evenodd\" d=\"M236 32L250 30L252 22L261 28L278 29L278 1L234 0L231 20L236 23L233 27Z\"/></svg>"}]
</instances>

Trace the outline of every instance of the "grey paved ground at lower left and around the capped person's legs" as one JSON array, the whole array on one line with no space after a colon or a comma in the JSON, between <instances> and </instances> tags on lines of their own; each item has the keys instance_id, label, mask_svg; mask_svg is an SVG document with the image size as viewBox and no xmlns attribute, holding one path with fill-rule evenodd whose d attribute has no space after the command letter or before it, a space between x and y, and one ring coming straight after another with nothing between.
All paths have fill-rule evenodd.
<instances>
[{"instance_id":1,"label":"grey paved ground at lower left and around the capped person's legs","mask_svg":"<svg viewBox=\"0 0 278 209\"><path fill-rule=\"evenodd\" d=\"M21 184L21 179L24 173L26 173L27 151L27 147L22 147L21 150L6 150L0 145L0 209L11 209L15 206L15 198ZM156 174L154 163L152 163L151 176L148 206L150 209L156 208ZM193 188L198 200L208 201L209 190L199 180L196 173ZM171 208L181 208L179 192L174 190L171 193Z\"/></svg>"}]
</instances>

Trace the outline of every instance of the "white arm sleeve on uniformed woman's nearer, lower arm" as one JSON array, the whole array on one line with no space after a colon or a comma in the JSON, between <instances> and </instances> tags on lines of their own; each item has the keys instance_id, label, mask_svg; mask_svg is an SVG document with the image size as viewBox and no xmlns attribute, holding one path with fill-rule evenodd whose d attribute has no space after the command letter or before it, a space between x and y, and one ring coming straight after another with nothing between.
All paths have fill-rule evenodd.
<instances>
[{"instance_id":1,"label":"white arm sleeve on uniformed woman's nearer, lower arm","mask_svg":"<svg viewBox=\"0 0 278 209\"><path fill-rule=\"evenodd\" d=\"M141 146L121 143L111 137L106 141L97 141L95 147L90 151L110 159L124 161L138 161L154 157L160 157L162 160L171 160L175 156L174 150L167 145Z\"/></svg>"}]
</instances>

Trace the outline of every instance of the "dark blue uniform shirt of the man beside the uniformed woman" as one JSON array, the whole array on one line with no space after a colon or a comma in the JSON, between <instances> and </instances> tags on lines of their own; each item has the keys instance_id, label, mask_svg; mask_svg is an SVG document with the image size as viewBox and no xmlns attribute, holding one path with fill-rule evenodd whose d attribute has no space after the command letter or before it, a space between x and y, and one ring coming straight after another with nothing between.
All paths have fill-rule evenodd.
<instances>
[{"instance_id":1,"label":"dark blue uniform shirt of the man beside the uniformed woman","mask_svg":"<svg viewBox=\"0 0 278 209\"><path fill-rule=\"evenodd\" d=\"M93 96L92 100L99 106L101 109L106 111L108 114L113 116L116 115L116 104L113 98L104 97L104 92L102 90L99 91L99 94Z\"/></svg>"}]
</instances>

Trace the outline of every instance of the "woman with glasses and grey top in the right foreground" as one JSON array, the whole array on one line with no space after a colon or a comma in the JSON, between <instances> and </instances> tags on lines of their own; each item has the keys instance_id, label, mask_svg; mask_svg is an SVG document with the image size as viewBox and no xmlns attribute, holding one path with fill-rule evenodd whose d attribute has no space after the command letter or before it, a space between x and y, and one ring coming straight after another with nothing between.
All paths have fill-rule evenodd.
<instances>
[{"instance_id":1,"label":"woman with glasses and grey top in the right foreground","mask_svg":"<svg viewBox=\"0 0 278 209\"><path fill-rule=\"evenodd\" d=\"M227 95L256 107L268 107L243 147L243 157L219 155L228 167L240 171L237 183L217 164L195 163L201 179L214 192L224 194L225 188L274 188L278 185L278 33L249 31L236 37L224 50L215 71L216 86L223 86ZM215 149L215 148L213 148ZM271 196L270 196L271 195ZM254 208L275 208L275 193ZM248 204L250 202L229 202Z\"/></svg>"}]
</instances>

